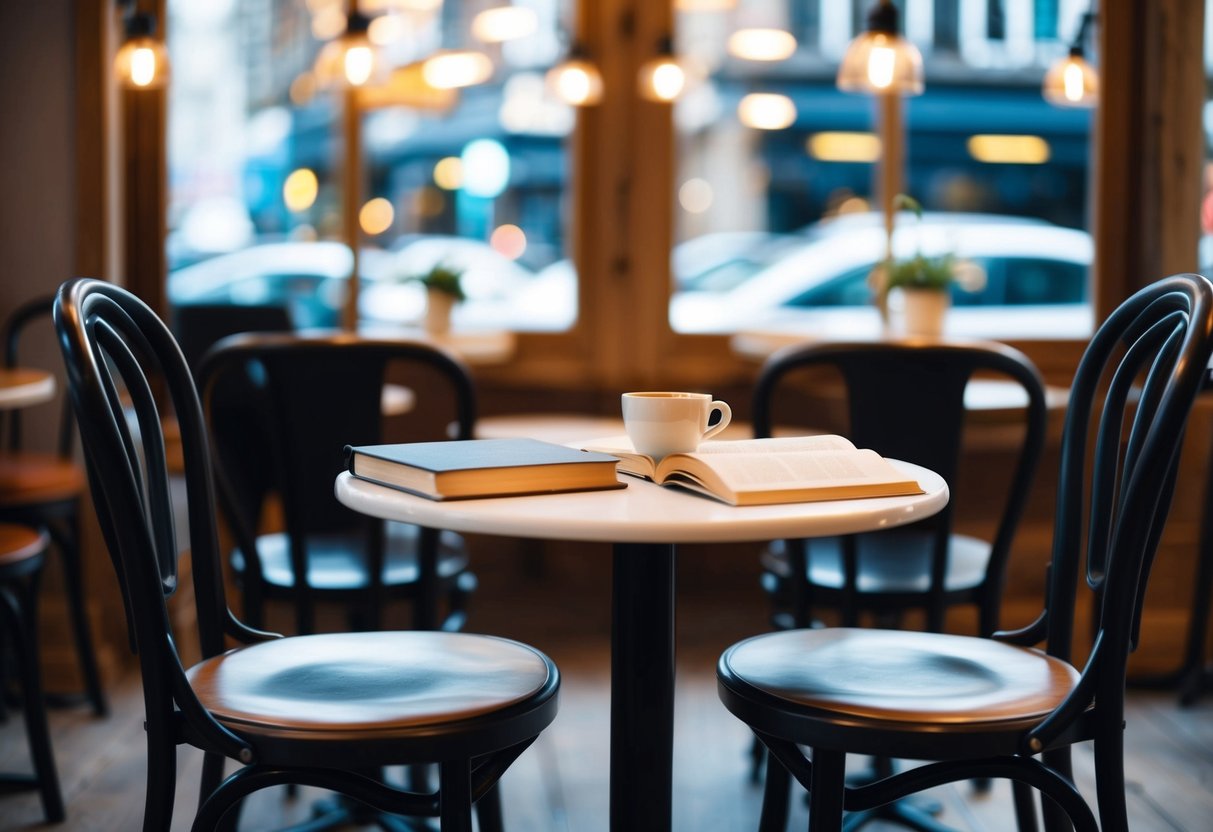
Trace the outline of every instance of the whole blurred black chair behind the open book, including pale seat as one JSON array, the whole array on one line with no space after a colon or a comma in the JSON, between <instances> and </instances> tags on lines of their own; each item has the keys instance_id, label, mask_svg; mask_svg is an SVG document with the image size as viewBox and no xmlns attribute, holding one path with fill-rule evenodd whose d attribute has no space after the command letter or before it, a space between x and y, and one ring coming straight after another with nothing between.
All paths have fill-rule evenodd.
<instances>
[{"instance_id":1,"label":"whole blurred black chair behind the open book, including pale seat","mask_svg":"<svg viewBox=\"0 0 1213 832\"><path fill-rule=\"evenodd\" d=\"M950 503L939 514L890 531L778 541L763 558L763 585L776 604L776 626L807 627L814 610L835 609L847 626L872 612L885 623L922 610L927 628L943 631L949 606L974 604L979 631L998 626L1010 542L1027 502L1046 433L1044 386L1031 361L995 343L820 343L773 355L753 394L754 435L773 424L824 424L821 414L791 414L786 401L802 371L833 370L847 394L848 427L859 448L913 462L956 486L964 437L964 391L993 374L1024 391L1024 431L1013 448L1014 473L992 541L952 532ZM820 376L813 376L820 378ZM780 403L785 406L780 411Z\"/></svg>"}]
</instances>

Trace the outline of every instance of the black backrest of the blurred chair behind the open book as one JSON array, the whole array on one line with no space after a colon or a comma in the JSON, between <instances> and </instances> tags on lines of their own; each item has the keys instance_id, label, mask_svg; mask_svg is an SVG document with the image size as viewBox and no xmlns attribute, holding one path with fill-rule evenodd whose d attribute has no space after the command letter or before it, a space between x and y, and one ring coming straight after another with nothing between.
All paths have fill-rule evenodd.
<instances>
[{"instance_id":1,"label":"black backrest of the blurred chair behind the open book","mask_svg":"<svg viewBox=\"0 0 1213 832\"><path fill-rule=\"evenodd\" d=\"M987 580L1001 587L1015 526L1027 502L1044 446L1044 384L1023 353L998 343L837 342L791 347L770 357L753 394L754 435L769 437L781 383L796 371L833 367L847 388L848 437L860 448L939 473L955 489L966 420L964 391L978 374L996 374L1026 394L1025 431L991 545ZM951 531L951 505L921 528L933 529L943 554ZM936 569L933 583L941 583Z\"/></svg>"}]
</instances>

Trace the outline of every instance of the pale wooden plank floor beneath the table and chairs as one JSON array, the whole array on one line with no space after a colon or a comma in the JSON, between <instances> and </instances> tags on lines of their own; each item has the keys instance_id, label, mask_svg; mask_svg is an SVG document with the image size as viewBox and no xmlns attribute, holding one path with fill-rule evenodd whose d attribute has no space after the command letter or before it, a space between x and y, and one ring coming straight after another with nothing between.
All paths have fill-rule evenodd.
<instances>
[{"instance_id":1,"label":"pale wooden plank floor beneath the table and chairs","mask_svg":"<svg viewBox=\"0 0 1213 832\"><path fill-rule=\"evenodd\" d=\"M484 583L482 593L484 595ZM547 591L543 597L549 598ZM507 828L513 832L599 832L608 828L609 636L603 591L587 615L551 612L523 591L509 605L473 617L474 628L525 637L552 655L564 676L560 714L502 781ZM577 598L566 606L576 609ZM484 610L485 608L478 608ZM547 612L542 610L548 610ZM536 611L540 610L540 611ZM716 696L713 665L719 650L758 632L761 608L679 591L679 665L676 703L674 830L731 832L757 825L761 790L747 781L748 737ZM109 689L113 716L98 720L84 710L51 714L68 821L57 828L127 832L142 817L144 770L142 699L131 674ZM1128 717L1128 803L1139 832L1213 830L1213 695L1180 710L1171 693L1132 696ZM195 807L200 754L178 754L175 830L189 827ZM1089 753L1077 754L1080 786L1090 793ZM862 760L856 760L861 764ZM28 767L21 723L0 725L0 770ZM307 816L315 794L287 800L280 791L255 796L241 828L273 828ZM941 820L957 830L1014 828L1009 788L996 785L976 796L967 785L939 790ZM790 828L805 828L803 800L793 800ZM0 830L44 828L33 793L0 798ZM869 830L895 828L871 825Z\"/></svg>"}]
</instances>

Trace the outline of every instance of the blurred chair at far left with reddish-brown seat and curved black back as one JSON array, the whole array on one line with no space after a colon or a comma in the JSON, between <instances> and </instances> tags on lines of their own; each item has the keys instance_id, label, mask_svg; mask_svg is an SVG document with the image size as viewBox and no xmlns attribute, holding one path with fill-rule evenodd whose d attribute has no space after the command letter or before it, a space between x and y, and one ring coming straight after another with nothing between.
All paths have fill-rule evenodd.
<instances>
[{"instance_id":1,"label":"blurred chair at far left with reddish-brown seat and curved black back","mask_svg":"<svg viewBox=\"0 0 1213 832\"><path fill-rule=\"evenodd\" d=\"M33 300L18 307L5 321L0 340L4 342L5 366L21 364L24 336L38 325L51 331L52 297ZM50 338L47 338L50 342ZM0 414L4 420L4 463L0 465L0 520L45 528L63 565L63 586L67 589L68 615L80 662L80 677L93 713L104 716L109 705L101 685L92 633L85 605L84 562L80 558L80 500L85 491L85 474L73 460L75 423L67 397L62 401L53 450L34 446L23 431L22 411Z\"/></svg>"}]
</instances>

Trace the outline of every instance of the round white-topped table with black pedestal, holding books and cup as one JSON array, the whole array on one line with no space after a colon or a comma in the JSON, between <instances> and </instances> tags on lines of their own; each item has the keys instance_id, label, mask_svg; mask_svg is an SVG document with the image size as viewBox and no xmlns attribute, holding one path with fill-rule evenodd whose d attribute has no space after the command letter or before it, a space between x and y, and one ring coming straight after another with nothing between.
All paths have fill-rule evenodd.
<instances>
[{"instance_id":1,"label":"round white-topped table with black pedestal, holding books and cup","mask_svg":"<svg viewBox=\"0 0 1213 832\"><path fill-rule=\"evenodd\" d=\"M735 508L631 477L626 489L434 502L337 477L354 511L434 529L614 543L610 827L670 830L674 707L674 545L814 537L892 528L947 503L932 471L894 461L924 494Z\"/></svg>"}]
</instances>

